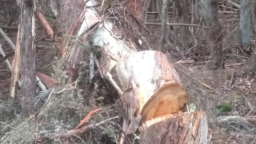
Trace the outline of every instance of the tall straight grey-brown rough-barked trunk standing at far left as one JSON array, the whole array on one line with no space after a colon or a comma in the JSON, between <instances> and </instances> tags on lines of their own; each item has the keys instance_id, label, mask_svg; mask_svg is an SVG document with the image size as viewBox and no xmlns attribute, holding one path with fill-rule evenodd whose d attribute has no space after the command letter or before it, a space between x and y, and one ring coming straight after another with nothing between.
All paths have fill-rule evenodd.
<instances>
[{"instance_id":1,"label":"tall straight grey-brown rough-barked trunk standing at far left","mask_svg":"<svg viewBox=\"0 0 256 144\"><path fill-rule=\"evenodd\" d=\"M32 0L17 0L20 22L20 76L22 117L28 117L34 108L35 97L35 48L32 37Z\"/></svg>"}]
</instances>

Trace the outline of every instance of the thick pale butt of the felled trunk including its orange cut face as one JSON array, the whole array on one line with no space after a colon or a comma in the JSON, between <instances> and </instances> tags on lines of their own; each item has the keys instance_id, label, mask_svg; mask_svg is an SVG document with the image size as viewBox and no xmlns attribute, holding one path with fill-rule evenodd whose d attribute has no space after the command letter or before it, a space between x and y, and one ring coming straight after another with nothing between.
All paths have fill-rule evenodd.
<instances>
[{"instance_id":1,"label":"thick pale butt of the felled trunk including its orange cut face","mask_svg":"<svg viewBox=\"0 0 256 144\"><path fill-rule=\"evenodd\" d=\"M130 119L141 114L141 122L145 122L161 114L182 111L187 102L178 74L161 52L126 55L116 65L116 73L124 92L121 101Z\"/></svg>"}]
</instances>

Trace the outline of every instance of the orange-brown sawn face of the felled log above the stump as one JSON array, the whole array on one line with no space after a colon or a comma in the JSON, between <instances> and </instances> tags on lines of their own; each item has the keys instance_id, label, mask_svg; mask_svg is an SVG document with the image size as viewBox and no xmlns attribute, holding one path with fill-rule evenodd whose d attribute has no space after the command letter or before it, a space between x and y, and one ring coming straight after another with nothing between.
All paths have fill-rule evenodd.
<instances>
[{"instance_id":1,"label":"orange-brown sawn face of the felled log above the stump","mask_svg":"<svg viewBox=\"0 0 256 144\"><path fill-rule=\"evenodd\" d=\"M187 112L187 92L180 84L169 84L158 89L141 110L141 123L152 118ZM164 118L165 119L165 118Z\"/></svg>"}]
</instances>

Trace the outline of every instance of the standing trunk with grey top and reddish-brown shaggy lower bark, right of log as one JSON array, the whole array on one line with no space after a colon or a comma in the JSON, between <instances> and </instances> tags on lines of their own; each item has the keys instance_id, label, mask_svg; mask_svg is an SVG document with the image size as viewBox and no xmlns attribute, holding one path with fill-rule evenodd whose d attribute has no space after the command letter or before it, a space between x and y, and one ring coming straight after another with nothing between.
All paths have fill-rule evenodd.
<instances>
[{"instance_id":1,"label":"standing trunk with grey top and reddish-brown shaggy lower bark, right of log","mask_svg":"<svg viewBox=\"0 0 256 144\"><path fill-rule=\"evenodd\" d=\"M213 69L224 68L221 24L218 21L217 0L201 0L204 21L210 26L211 63Z\"/></svg>"}]
</instances>

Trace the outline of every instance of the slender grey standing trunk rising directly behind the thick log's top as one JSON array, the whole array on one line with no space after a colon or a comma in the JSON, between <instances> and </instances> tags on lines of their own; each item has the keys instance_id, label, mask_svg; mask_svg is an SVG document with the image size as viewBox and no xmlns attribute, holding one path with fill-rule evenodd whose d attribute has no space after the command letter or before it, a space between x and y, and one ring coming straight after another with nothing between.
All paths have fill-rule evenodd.
<instances>
[{"instance_id":1,"label":"slender grey standing trunk rising directly behind the thick log's top","mask_svg":"<svg viewBox=\"0 0 256 144\"><path fill-rule=\"evenodd\" d=\"M166 18L167 18L167 7L169 4L169 0L163 0L163 6L162 6L162 16L161 16L161 39L160 39L160 45L159 45L159 51L163 52L164 51L164 45L165 45L165 37L166 37Z\"/></svg>"}]
</instances>

